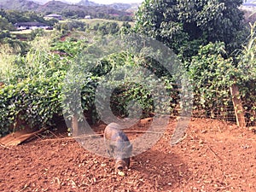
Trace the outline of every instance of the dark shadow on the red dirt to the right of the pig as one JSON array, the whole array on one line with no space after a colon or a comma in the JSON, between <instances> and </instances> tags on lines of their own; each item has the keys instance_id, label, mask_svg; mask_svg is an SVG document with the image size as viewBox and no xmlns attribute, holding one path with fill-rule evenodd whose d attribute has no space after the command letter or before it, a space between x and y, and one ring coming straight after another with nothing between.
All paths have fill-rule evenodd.
<instances>
[{"instance_id":1,"label":"dark shadow on the red dirt to the right of the pig","mask_svg":"<svg viewBox=\"0 0 256 192\"><path fill-rule=\"evenodd\" d=\"M187 183L188 166L177 154L150 150L132 157L131 169L140 172L143 180L155 185L157 189L173 189L173 186Z\"/></svg>"}]
</instances>

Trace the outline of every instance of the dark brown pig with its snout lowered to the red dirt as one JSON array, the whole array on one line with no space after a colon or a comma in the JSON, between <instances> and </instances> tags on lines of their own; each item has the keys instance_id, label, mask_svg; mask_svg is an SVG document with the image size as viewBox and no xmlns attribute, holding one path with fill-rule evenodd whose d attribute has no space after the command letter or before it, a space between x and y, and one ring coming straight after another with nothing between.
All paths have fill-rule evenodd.
<instances>
[{"instance_id":1,"label":"dark brown pig with its snout lowered to the red dirt","mask_svg":"<svg viewBox=\"0 0 256 192\"><path fill-rule=\"evenodd\" d=\"M115 160L115 170L122 171L130 166L130 156L132 145L121 130L121 126L116 123L110 123L104 131L104 141L110 157Z\"/></svg>"}]
</instances>

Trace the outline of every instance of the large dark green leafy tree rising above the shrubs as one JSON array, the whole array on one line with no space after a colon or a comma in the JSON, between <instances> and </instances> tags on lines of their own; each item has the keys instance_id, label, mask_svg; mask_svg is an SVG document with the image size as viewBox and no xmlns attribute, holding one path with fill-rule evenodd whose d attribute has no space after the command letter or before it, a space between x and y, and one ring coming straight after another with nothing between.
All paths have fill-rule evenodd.
<instances>
[{"instance_id":1,"label":"large dark green leafy tree rising above the shrubs","mask_svg":"<svg viewBox=\"0 0 256 192\"><path fill-rule=\"evenodd\" d=\"M145 0L135 31L160 40L183 58L200 45L224 42L228 53L241 46L242 0Z\"/></svg>"}]
</instances>

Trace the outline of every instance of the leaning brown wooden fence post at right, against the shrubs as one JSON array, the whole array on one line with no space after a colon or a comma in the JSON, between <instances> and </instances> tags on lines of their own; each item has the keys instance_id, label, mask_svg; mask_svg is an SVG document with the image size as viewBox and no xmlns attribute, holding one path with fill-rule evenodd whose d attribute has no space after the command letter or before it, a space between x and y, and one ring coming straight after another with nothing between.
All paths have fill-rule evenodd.
<instances>
[{"instance_id":1,"label":"leaning brown wooden fence post at right, against the shrubs","mask_svg":"<svg viewBox=\"0 0 256 192\"><path fill-rule=\"evenodd\" d=\"M230 86L230 92L231 92L232 102L233 102L233 106L236 114L236 124L240 127L246 127L246 122L244 118L242 102L241 102L238 86L236 84L232 84Z\"/></svg>"}]
</instances>

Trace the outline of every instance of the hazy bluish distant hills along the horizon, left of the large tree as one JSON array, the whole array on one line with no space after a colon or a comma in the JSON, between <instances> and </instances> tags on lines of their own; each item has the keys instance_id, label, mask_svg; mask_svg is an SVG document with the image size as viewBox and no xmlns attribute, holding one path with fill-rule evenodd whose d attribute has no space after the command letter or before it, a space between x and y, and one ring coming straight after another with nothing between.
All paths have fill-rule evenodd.
<instances>
[{"instance_id":1,"label":"hazy bluish distant hills along the horizon, left of the large tree","mask_svg":"<svg viewBox=\"0 0 256 192\"><path fill-rule=\"evenodd\" d=\"M88 0L81 0L79 3L64 3L59 0L47 3L35 3L32 0L0 0L0 9L35 11L42 15L57 14L62 15L63 18L84 18L85 15L90 15L91 18L125 21L132 20L138 5L138 3L97 4Z\"/></svg>"}]
</instances>

